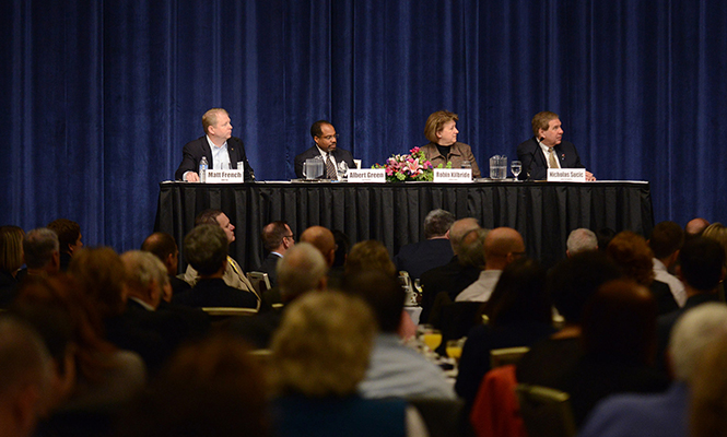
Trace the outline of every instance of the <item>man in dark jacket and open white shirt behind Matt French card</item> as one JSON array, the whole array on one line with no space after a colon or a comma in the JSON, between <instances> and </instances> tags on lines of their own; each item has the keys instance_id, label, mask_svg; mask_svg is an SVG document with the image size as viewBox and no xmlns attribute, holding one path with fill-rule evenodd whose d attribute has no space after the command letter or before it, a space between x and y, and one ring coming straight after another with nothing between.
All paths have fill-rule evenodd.
<instances>
[{"instance_id":1,"label":"man in dark jacket and open white shirt behind Matt French card","mask_svg":"<svg viewBox=\"0 0 727 437\"><path fill-rule=\"evenodd\" d=\"M181 150L181 164L174 174L175 179L189 182L199 182L199 162L207 157L209 168L237 168L237 163L245 163L245 181L255 180L255 173L247 162L243 140L232 137L230 115L222 108L212 108L202 116L204 137L188 142ZM225 153L226 152L226 153Z\"/></svg>"}]
</instances>

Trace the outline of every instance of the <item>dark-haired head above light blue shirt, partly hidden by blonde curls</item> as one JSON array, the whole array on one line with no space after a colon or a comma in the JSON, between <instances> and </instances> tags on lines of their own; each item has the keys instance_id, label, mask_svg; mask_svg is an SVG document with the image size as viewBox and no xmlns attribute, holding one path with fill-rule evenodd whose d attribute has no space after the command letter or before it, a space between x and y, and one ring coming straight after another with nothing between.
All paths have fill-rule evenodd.
<instances>
[{"instance_id":1,"label":"dark-haired head above light blue shirt, partly hidden by blonde curls","mask_svg":"<svg viewBox=\"0 0 727 437\"><path fill-rule=\"evenodd\" d=\"M382 332L397 332L401 323L404 292L396 279L379 271L362 272L347 277L344 288L371 306Z\"/></svg>"}]
</instances>

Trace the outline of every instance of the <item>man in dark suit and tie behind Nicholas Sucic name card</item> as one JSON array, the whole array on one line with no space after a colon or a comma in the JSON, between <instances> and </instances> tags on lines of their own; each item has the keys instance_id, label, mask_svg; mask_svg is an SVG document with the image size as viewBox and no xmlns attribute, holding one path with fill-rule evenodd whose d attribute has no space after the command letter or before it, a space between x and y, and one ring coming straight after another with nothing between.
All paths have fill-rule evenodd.
<instances>
[{"instance_id":1,"label":"man in dark suit and tie behind Nicholas Sucic name card","mask_svg":"<svg viewBox=\"0 0 727 437\"><path fill-rule=\"evenodd\" d=\"M558 114L538 113L532 117L535 137L517 146L517 158L523 163L520 180L541 180L548 168L585 168L575 145L563 141L563 127ZM586 172L586 180L596 180Z\"/></svg>"}]
</instances>

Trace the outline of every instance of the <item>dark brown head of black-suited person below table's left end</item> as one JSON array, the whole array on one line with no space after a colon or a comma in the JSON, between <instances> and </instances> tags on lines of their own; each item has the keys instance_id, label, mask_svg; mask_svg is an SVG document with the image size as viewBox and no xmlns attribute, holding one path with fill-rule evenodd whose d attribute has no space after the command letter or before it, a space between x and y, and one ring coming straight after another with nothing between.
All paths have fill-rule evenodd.
<instances>
[{"instance_id":1,"label":"dark brown head of black-suited person below table's left end","mask_svg":"<svg viewBox=\"0 0 727 437\"><path fill-rule=\"evenodd\" d=\"M201 275L216 273L227 260L227 236L216 224L196 226L185 237L185 258Z\"/></svg>"}]
</instances>

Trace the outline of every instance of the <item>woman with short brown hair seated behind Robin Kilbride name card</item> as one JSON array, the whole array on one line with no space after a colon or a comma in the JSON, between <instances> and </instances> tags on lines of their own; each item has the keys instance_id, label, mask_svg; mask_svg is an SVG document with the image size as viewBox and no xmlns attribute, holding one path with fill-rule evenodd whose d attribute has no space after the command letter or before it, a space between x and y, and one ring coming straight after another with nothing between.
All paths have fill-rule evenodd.
<instances>
[{"instance_id":1,"label":"woman with short brown hair seated behind Robin Kilbride name card","mask_svg":"<svg viewBox=\"0 0 727 437\"><path fill-rule=\"evenodd\" d=\"M462 168L464 162L469 162L472 167L472 177L479 178L480 167L477 165L472 149L457 141L457 121L459 117L457 114L448 110L437 110L433 113L424 126L424 137L430 140L430 143L422 146L424 156L436 168L439 164L446 167L447 163L452 163L452 168Z\"/></svg>"}]
</instances>

